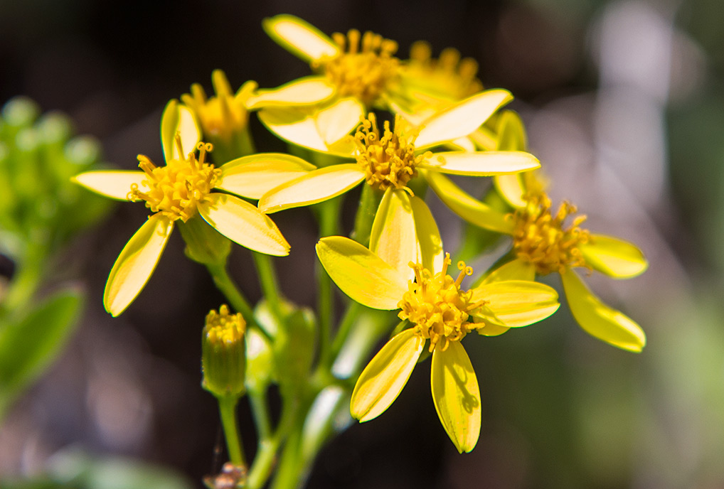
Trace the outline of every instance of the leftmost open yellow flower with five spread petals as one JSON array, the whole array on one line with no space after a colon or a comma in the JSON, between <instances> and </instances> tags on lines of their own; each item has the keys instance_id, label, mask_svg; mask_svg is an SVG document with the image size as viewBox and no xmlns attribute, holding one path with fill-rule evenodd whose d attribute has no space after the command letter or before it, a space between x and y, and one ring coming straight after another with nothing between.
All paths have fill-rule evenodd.
<instances>
[{"instance_id":1,"label":"leftmost open yellow flower with five spread petals","mask_svg":"<svg viewBox=\"0 0 724 489\"><path fill-rule=\"evenodd\" d=\"M276 224L255 205L214 190L258 199L279 181L313 166L288 155L261 154L215 168L206 162L211 145L199 139L193 114L171 101L161 119L165 166L139 155L141 171L88 171L74 177L93 192L116 200L143 201L153 212L111 269L104 292L104 305L111 315L123 312L146 285L176 225L190 229L205 223L251 250L289 254L289 244Z\"/></svg>"}]
</instances>

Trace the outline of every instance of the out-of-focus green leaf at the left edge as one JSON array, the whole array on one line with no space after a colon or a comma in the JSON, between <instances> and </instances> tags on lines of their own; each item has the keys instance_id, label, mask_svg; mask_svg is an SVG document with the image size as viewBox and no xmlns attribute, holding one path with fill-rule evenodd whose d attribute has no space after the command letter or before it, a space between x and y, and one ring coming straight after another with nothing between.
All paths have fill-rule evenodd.
<instances>
[{"instance_id":1,"label":"out-of-focus green leaf at the left edge","mask_svg":"<svg viewBox=\"0 0 724 489\"><path fill-rule=\"evenodd\" d=\"M38 378L70 337L83 307L83 294L65 289L25 318L0 331L0 417L22 388Z\"/></svg>"}]
</instances>

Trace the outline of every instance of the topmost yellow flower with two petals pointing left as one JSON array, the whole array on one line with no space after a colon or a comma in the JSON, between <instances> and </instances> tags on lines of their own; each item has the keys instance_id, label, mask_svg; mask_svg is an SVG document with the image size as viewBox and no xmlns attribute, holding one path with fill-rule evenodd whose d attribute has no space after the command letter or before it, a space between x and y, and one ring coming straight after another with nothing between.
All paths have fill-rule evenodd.
<instances>
[{"instance_id":1,"label":"topmost yellow flower with two petals pointing left","mask_svg":"<svg viewBox=\"0 0 724 489\"><path fill-rule=\"evenodd\" d=\"M382 35L350 30L332 38L293 15L265 19L264 30L319 75L303 77L271 90L258 90L248 101L250 109L264 106L318 104L352 97L368 109L387 108L399 83L397 43Z\"/></svg>"}]
</instances>

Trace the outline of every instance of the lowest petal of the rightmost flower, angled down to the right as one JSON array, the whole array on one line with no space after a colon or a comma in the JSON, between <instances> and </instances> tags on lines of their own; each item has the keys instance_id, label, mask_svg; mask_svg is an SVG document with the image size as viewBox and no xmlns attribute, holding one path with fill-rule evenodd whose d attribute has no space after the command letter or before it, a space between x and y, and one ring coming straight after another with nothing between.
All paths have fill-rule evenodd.
<instances>
[{"instance_id":1,"label":"lowest petal of the rightmost flower, angled down to the right","mask_svg":"<svg viewBox=\"0 0 724 489\"><path fill-rule=\"evenodd\" d=\"M613 346L630 352L641 352L646 346L646 335L641 326L622 312L605 305L596 297L576 272L561 273L565 297L581 328Z\"/></svg>"}]
</instances>

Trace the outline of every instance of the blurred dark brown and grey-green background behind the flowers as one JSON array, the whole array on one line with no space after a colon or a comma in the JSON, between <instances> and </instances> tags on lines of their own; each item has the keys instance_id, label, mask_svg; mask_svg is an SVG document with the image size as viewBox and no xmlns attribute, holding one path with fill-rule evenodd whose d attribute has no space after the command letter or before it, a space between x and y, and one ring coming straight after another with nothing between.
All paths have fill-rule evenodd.
<instances>
[{"instance_id":1,"label":"blurred dark brown and grey-green background behind the flowers","mask_svg":"<svg viewBox=\"0 0 724 489\"><path fill-rule=\"evenodd\" d=\"M530 328L468 340L483 399L471 454L447 439L418 368L384 416L321 452L309 487L724 487L724 4L0 0L0 102L27 95L70 115L77 134L100 141L108 167L134 169L138 153L160 161L161 110L193 82L210 93L213 69L234 88L308 73L261 30L284 12L324 33L382 33L401 58L424 39L434 56L453 46L479 61L487 88L515 95L554 201L572 200L589 229L635 242L650 262L632 280L587 279L647 332L641 354L588 336L565 306ZM284 150L256 120L252 130L258 150ZM429 201L454 247L459 219ZM206 271L173 237L123 315L102 307L111 265L146 215L114 205L48 268L46 292L72 281L87 292L85 310L0 426L0 487L70 477L87 460L103 462L99 477L118 488L140 487L127 478L130 461L143 462L133 465L139 477L173 474L169 488L200 487L218 470L218 414L199 387L199 354L203 317L222 298ZM282 287L312 305L313 219L302 209L275 221L303 257L279 263ZM0 265L10 278L12 260ZM236 247L231 266L258 299L247 250ZM244 403L240 417L252 433ZM251 450L253 437L245 442Z\"/></svg>"}]
</instances>

